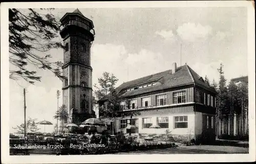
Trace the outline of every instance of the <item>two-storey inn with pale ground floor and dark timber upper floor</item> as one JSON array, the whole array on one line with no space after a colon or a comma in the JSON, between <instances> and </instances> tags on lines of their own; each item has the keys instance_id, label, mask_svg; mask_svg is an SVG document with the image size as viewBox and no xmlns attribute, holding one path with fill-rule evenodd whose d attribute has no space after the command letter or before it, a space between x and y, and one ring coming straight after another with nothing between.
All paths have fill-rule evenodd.
<instances>
[{"instance_id":1,"label":"two-storey inn with pale ground floor and dark timber upper floor","mask_svg":"<svg viewBox=\"0 0 256 164\"><path fill-rule=\"evenodd\" d=\"M123 83L116 92L122 112L136 110L138 115L117 118L115 131L134 124L138 133L164 134L168 129L176 139L215 141L217 92L187 64L177 67L173 63L172 69ZM108 96L99 104L106 100ZM161 128L150 128L152 125Z\"/></svg>"}]
</instances>

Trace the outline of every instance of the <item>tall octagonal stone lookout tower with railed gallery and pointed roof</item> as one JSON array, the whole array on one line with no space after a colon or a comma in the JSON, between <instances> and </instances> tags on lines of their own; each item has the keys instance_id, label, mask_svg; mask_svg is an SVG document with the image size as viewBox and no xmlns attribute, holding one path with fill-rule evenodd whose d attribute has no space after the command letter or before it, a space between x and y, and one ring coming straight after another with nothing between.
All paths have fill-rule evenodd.
<instances>
[{"instance_id":1,"label":"tall octagonal stone lookout tower with railed gallery and pointed roof","mask_svg":"<svg viewBox=\"0 0 256 164\"><path fill-rule=\"evenodd\" d=\"M62 81L63 104L68 123L80 124L95 117L92 104L91 45L94 41L92 20L76 9L60 19L60 36L65 46Z\"/></svg>"}]
</instances>

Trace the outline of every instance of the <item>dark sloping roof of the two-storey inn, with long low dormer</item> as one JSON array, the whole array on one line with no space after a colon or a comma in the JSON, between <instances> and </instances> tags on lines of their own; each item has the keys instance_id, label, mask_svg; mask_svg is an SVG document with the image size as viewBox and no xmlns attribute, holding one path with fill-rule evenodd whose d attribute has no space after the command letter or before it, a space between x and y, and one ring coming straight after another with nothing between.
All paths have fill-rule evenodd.
<instances>
[{"instance_id":1,"label":"dark sloping roof of the two-storey inn, with long low dormer","mask_svg":"<svg viewBox=\"0 0 256 164\"><path fill-rule=\"evenodd\" d=\"M137 89L133 91L125 92L126 89L133 88L139 85L144 85L152 82L158 81L160 85ZM163 72L159 72L156 74L148 75L145 77L141 77L135 80L127 81L126 83L121 84L116 88L116 92L119 94L120 98L135 96L143 93L158 91L169 89L178 86L184 86L189 84L197 84L202 86L203 88L213 91L210 86L204 83L204 80L201 76L199 76L193 69L191 69L188 65L183 65L177 67L175 73L172 73L172 70L166 70ZM100 101L108 99L108 95L102 98Z\"/></svg>"}]
</instances>

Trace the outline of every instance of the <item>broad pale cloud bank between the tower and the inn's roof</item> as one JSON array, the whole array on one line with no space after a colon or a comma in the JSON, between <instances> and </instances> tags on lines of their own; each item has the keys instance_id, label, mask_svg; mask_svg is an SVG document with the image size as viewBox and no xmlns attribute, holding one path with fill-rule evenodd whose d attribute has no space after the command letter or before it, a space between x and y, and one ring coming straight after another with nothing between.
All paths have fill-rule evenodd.
<instances>
[{"instance_id":1,"label":"broad pale cloud bank between the tower and the inn's roof","mask_svg":"<svg viewBox=\"0 0 256 164\"><path fill-rule=\"evenodd\" d=\"M123 45L96 44L92 47L92 68L97 68L93 69L93 84L98 84L103 72L110 72L119 79L118 87L125 81L166 70L169 65L161 61L165 60L160 53L148 49L129 53Z\"/></svg>"}]
</instances>

